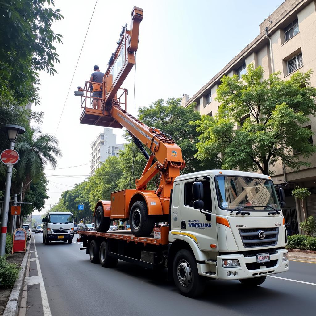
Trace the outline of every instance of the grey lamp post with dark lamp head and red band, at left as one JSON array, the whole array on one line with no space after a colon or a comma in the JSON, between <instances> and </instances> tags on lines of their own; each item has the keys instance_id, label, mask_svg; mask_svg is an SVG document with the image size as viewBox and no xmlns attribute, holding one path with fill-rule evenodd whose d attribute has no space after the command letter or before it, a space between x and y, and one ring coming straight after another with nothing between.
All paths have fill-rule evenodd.
<instances>
[{"instance_id":1,"label":"grey lamp post with dark lamp head and red band, at left","mask_svg":"<svg viewBox=\"0 0 316 316\"><path fill-rule=\"evenodd\" d=\"M25 129L18 125L4 125L1 127L1 131L8 133L8 139L10 142L9 149L14 150L14 144L18 134L25 133ZM16 161L15 161L16 162ZM9 202L10 202L10 191L11 191L11 179L12 179L12 168L13 163L5 163L7 165L7 175L5 180L5 190L3 199L3 215L1 223L1 234L0 234L0 256L5 253L5 242L7 238L7 224L9 214Z\"/></svg>"}]
</instances>

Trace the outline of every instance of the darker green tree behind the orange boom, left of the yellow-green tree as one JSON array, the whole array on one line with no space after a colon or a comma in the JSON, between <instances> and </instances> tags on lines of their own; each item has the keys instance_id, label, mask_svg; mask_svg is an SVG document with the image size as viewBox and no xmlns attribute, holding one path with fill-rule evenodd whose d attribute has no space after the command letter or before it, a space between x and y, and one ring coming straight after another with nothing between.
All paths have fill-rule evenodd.
<instances>
[{"instance_id":1,"label":"darker green tree behind the orange boom, left of the yellow-green tree","mask_svg":"<svg viewBox=\"0 0 316 316\"><path fill-rule=\"evenodd\" d=\"M197 161L195 158L199 133L189 122L200 120L201 115L194 111L194 105L183 107L180 98L168 98L166 102L159 99L149 107L139 109L139 119L144 124L171 135L175 143L181 148L186 165L182 173L219 167L219 157L216 155L212 156L211 159L205 157L203 161ZM145 165L143 166L145 167Z\"/></svg>"}]
</instances>

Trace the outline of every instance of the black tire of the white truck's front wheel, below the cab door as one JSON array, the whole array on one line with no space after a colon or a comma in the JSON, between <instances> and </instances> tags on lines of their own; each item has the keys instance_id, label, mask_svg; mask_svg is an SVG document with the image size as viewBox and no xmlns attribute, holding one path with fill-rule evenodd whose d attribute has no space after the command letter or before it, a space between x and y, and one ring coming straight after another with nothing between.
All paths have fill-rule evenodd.
<instances>
[{"instance_id":1,"label":"black tire of the white truck's front wheel, below the cab door","mask_svg":"<svg viewBox=\"0 0 316 316\"><path fill-rule=\"evenodd\" d=\"M186 261L186 263L185 263ZM179 264L187 264L189 265L190 272L187 273L187 280L189 279L189 276L191 276L191 281L186 282L188 285L184 286L180 283L180 280L178 278L178 266ZM197 263L195 260L195 257L193 253L189 250L182 249L179 250L173 260L173 280L176 285L176 287L179 289L180 293L182 295L188 296L188 297L196 297L198 295L201 295L205 289L205 277L200 276L197 271ZM179 271L179 274L181 271ZM190 274L191 273L191 274Z\"/></svg>"}]
</instances>

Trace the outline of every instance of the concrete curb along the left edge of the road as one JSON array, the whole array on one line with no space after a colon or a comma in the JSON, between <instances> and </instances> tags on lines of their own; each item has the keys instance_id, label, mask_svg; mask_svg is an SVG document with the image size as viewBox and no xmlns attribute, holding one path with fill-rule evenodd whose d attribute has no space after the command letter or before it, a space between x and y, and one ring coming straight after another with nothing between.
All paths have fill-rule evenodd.
<instances>
[{"instance_id":1,"label":"concrete curb along the left edge of the road","mask_svg":"<svg viewBox=\"0 0 316 316\"><path fill-rule=\"evenodd\" d=\"M22 291L23 291L23 285L25 280L25 274L26 274L26 267L27 267L27 260L30 255L30 246L31 242L29 242L26 250L26 254L24 255L24 258L21 263L21 270L20 270L20 276L15 281L9 301L7 303L7 306L4 309L2 316L18 316L19 313L19 305L22 298Z\"/></svg>"}]
</instances>

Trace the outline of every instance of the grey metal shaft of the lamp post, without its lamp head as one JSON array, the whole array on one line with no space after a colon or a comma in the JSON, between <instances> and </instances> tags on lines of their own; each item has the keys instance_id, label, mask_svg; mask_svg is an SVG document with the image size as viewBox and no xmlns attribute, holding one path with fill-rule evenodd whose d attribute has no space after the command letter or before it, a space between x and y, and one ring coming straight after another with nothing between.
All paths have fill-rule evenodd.
<instances>
[{"instance_id":1,"label":"grey metal shaft of the lamp post, without its lamp head","mask_svg":"<svg viewBox=\"0 0 316 316\"><path fill-rule=\"evenodd\" d=\"M14 142L10 142L9 149L14 149ZM10 191L11 191L11 180L12 180L12 165L7 166L7 176L5 180L5 190L3 199L3 215L1 223L1 234L0 234L0 256L5 254L5 242L7 239L7 225L8 225L8 214L9 214L9 203L10 203Z\"/></svg>"}]
</instances>

